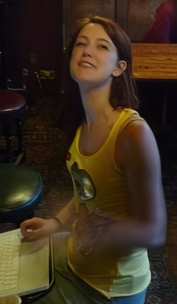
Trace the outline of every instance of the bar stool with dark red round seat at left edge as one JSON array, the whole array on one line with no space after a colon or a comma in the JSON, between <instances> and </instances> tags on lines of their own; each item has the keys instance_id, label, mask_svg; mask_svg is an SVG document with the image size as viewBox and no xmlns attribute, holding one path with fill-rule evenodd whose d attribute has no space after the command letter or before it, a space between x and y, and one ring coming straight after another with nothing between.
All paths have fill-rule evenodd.
<instances>
[{"instance_id":1,"label":"bar stool with dark red round seat at left edge","mask_svg":"<svg viewBox=\"0 0 177 304\"><path fill-rule=\"evenodd\" d=\"M23 150L23 124L22 118L26 110L25 98L16 92L0 90L0 123L3 124L3 135L6 139L7 162L11 162L13 151L11 149L12 124L15 122L18 141L18 155ZM14 135L14 134L13 134Z\"/></svg>"}]
</instances>

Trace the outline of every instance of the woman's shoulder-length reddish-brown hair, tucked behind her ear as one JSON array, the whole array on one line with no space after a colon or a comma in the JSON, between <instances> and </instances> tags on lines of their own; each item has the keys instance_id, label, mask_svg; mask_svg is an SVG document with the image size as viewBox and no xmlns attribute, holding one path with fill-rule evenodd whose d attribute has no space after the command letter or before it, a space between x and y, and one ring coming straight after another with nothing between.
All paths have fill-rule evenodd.
<instances>
[{"instance_id":1,"label":"woman's shoulder-length reddish-brown hair, tucked behind her ear","mask_svg":"<svg viewBox=\"0 0 177 304\"><path fill-rule=\"evenodd\" d=\"M68 56L72 56L73 47L81 29L88 23L102 25L118 50L119 60L125 60L127 68L119 77L113 77L110 104L114 109L118 107L138 108L138 98L135 80L132 72L131 42L123 29L108 18L91 16L79 19L75 23L71 39L68 44Z\"/></svg>"}]
</instances>

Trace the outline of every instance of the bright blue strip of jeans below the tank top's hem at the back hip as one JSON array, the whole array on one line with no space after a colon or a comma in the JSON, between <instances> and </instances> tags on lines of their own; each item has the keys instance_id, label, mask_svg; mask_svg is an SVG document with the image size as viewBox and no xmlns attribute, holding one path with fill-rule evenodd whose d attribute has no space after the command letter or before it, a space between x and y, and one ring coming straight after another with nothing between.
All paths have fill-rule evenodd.
<instances>
[{"instance_id":1,"label":"bright blue strip of jeans below the tank top's hem at the back hip","mask_svg":"<svg viewBox=\"0 0 177 304\"><path fill-rule=\"evenodd\" d=\"M111 298L110 304L144 304L146 291L147 289L130 296L113 297Z\"/></svg>"}]
</instances>

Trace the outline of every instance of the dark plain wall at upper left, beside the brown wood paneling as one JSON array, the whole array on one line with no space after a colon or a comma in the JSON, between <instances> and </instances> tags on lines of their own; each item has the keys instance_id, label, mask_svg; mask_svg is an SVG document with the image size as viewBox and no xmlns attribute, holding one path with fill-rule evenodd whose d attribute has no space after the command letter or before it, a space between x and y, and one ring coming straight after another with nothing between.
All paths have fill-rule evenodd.
<instances>
[{"instance_id":1,"label":"dark plain wall at upper left, beside the brown wood paneling","mask_svg":"<svg viewBox=\"0 0 177 304\"><path fill-rule=\"evenodd\" d=\"M4 78L14 87L23 85L23 68L28 84L34 71L55 70L60 90L62 78L62 0L5 0L0 2L0 51ZM1 82L1 85L4 84ZM6 83L5 83L6 86Z\"/></svg>"}]
</instances>

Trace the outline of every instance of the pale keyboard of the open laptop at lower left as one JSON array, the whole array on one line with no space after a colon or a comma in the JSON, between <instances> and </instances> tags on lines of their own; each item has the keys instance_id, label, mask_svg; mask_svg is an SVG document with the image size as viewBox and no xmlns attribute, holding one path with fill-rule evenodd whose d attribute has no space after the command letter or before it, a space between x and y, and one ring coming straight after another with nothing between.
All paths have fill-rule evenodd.
<instances>
[{"instance_id":1,"label":"pale keyboard of the open laptop at lower left","mask_svg":"<svg viewBox=\"0 0 177 304\"><path fill-rule=\"evenodd\" d=\"M20 236L5 233L0 238L0 291L18 286Z\"/></svg>"}]
</instances>

